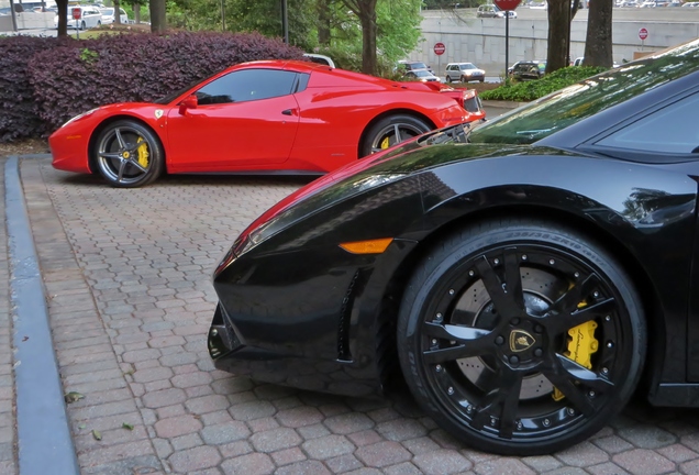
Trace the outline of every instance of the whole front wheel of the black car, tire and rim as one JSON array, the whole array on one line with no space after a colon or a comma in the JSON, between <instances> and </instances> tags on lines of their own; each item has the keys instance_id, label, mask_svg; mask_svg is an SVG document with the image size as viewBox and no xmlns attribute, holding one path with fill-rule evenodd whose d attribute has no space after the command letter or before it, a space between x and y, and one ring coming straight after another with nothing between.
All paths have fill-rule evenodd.
<instances>
[{"instance_id":1,"label":"whole front wheel of the black car, tire and rim","mask_svg":"<svg viewBox=\"0 0 699 475\"><path fill-rule=\"evenodd\" d=\"M640 302L623 267L580 233L486 222L417 267L398 321L401 367L420 406L465 443L556 452L633 393L646 346Z\"/></svg>"}]
</instances>

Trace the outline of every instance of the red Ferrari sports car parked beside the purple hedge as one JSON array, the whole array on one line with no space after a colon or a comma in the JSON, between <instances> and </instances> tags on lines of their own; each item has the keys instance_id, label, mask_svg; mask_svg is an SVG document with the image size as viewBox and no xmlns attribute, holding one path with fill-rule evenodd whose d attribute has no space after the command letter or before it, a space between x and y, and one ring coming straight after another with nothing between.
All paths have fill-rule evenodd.
<instances>
[{"instance_id":1,"label":"red Ferrari sports car parked beside the purple hedge","mask_svg":"<svg viewBox=\"0 0 699 475\"><path fill-rule=\"evenodd\" d=\"M265 60L232 66L152 103L93 109L48 142L55 168L138 187L162 173L320 175L484 117L474 90Z\"/></svg>"}]
</instances>

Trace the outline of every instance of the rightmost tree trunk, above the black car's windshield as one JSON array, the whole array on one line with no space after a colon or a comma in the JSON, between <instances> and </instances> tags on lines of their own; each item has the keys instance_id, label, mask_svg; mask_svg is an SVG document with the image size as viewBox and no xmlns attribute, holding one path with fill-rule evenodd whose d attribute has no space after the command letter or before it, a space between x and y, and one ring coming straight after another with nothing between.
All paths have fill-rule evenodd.
<instances>
[{"instance_id":1,"label":"rightmost tree trunk, above the black car's windshield","mask_svg":"<svg viewBox=\"0 0 699 475\"><path fill-rule=\"evenodd\" d=\"M590 2L587 18L587 37L585 38L585 66L610 68L612 59L612 7L613 0Z\"/></svg>"}]
</instances>

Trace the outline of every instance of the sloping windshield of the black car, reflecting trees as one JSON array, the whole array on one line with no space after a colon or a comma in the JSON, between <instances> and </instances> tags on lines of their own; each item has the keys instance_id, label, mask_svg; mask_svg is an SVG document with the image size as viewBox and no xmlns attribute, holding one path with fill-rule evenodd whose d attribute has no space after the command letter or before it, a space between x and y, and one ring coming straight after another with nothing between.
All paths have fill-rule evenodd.
<instances>
[{"instance_id":1,"label":"sloping windshield of the black car, reflecting trees","mask_svg":"<svg viewBox=\"0 0 699 475\"><path fill-rule=\"evenodd\" d=\"M476 128L471 143L531 144L699 68L699 40L610 69Z\"/></svg>"}]
</instances>

